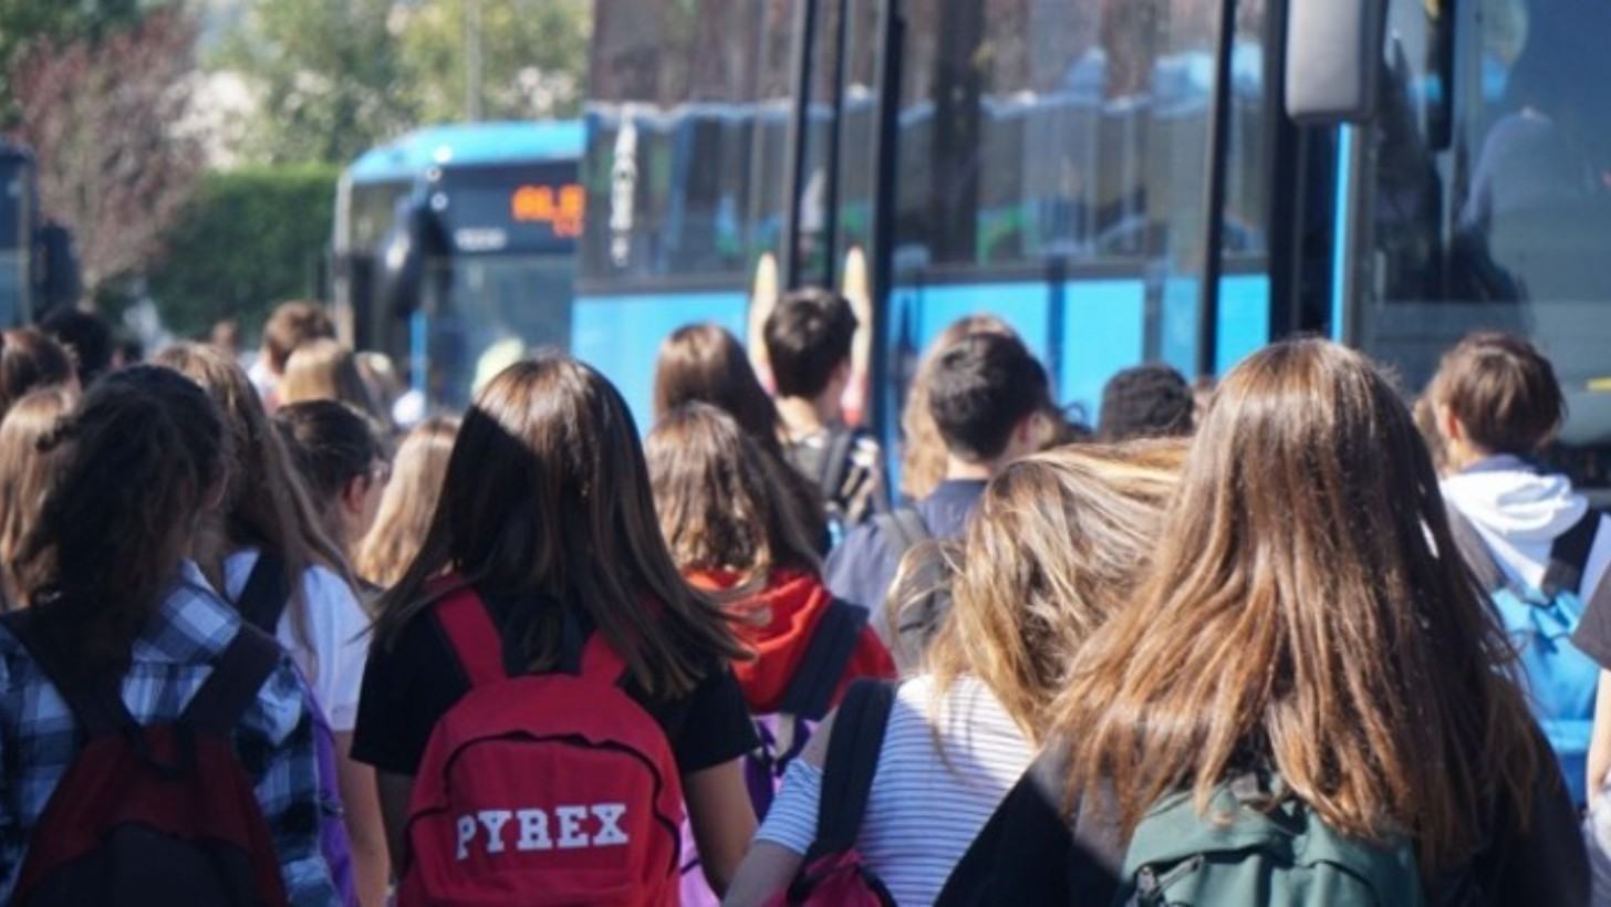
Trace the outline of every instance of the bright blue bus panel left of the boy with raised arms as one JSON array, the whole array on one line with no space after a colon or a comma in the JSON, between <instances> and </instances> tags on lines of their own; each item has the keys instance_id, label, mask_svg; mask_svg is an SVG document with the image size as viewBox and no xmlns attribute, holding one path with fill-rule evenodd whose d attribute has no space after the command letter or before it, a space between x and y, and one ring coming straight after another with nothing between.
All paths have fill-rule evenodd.
<instances>
[{"instance_id":1,"label":"bright blue bus panel left of the boy with raised arms","mask_svg":"<svg viewBox=\"0 0 1611 907\"><path fill-rule=\"evenodd\" d=\"M638 430L654 420L654 359L661 343L686 324L714 322L743 338L746 293L677 293L578 298L570 321L570 353L615 382Z\"/></svg>"}]
</instances>

